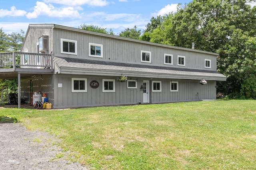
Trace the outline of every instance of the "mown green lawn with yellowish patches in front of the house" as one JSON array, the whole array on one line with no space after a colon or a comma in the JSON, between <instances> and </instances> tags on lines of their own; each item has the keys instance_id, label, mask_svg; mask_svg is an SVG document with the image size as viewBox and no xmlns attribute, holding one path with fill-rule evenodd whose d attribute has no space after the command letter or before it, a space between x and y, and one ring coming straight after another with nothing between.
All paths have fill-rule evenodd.
<instances>
[{"instance_id":1,"label":"mown green lawn with yellowish patches in front of the house","mask_svg":"<svg viewBox=\"0 0 256 170\"><path fill-rule=\"evenodd\" d=\"M256 100L0 109L92 169L256 170Z\"/></svg>"}]
</instances>

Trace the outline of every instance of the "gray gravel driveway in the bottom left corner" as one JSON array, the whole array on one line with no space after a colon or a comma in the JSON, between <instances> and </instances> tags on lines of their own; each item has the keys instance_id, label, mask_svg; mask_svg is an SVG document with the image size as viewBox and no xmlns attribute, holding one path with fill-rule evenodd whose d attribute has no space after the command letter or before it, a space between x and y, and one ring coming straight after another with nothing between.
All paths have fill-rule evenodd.
<instances>
[{"instance_id":1,"label":"gray gravel driveway in the bottom left corner","mask_svg":"<svg viewBox=\"0 0 256 170\"><path fill-rule=\"evenodd\" d=\"M28 131L19 123L0 123L0 170L87 170L65 160L68 152L54 143L59 139L41 131ZM56 158L56 154L64 154Z\"/></svg>"}]
</instances>

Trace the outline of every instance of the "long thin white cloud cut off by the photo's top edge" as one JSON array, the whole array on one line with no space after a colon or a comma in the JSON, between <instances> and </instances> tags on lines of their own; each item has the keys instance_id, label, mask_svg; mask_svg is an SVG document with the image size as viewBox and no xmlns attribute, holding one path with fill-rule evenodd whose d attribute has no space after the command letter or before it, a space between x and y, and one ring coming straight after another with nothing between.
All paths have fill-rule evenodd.
<instances>
[{"instance_id":1,"label":"long thin white cloud cut off by the photo's top edge","mask_svg":"<svg viewBox=\"0 0 256 170\"><path fill-rule=\"evenodd\" d=\"M77 6L87 4L89 6L107 6L106 0L44 0L46 3Z\"/></svg>"}]
</instances>

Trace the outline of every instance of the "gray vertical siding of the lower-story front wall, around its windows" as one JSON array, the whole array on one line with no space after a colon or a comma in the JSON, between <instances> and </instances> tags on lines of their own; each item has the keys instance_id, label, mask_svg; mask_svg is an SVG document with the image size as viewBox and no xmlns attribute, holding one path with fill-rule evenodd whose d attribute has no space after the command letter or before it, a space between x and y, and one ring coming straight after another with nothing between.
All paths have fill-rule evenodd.
<instances>
[{"instance_id":1,"label":"gray vertical siding of the lower-story front wall, around its windows","mask_svg":"<svg viewBox=\"0 0 256 170\"><path fill-rule=\"evenodd\" d=\"M72 92L72 78L87 78L87 92ZM116 79L116 77L78 76L78 75L54 75L54 108L108 106L122 104L138 104L143 101L143 78L131 78L137 80L136 89L127 88L127 82L116 81L116 92L102 92L102 79ZM100 86L96 89L90 87L90 82L97 80ZM171 80L159 80L162 82L162 92L150 91L150 103L184 102L197 100L216 99L216 82L208 81L201 85L198 81L178 81L178 92L170 92ZM62 87L58 87L62 84ZM150 80L151 86L151 80ZM198 96L196 96L198 92Z\"/></svg>"}]
</instances>

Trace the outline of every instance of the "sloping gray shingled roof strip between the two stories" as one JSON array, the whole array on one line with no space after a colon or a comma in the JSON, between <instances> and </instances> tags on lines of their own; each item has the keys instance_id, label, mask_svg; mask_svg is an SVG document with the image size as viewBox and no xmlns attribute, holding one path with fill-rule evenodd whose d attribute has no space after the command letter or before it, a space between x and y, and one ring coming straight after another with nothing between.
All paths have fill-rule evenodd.
<instances>
[{"instance_id":1,"label":"sloping gray shingled roof strip between the two stories","mask_svg":"<svg viewBox=\"0 0 256 170\"><path fill-rule=\"evenodd\" d=\"M54 57L54 63L61 74L85 74L101 76L119 76L144 78L178 78L192 80L226 80L226 76L213 70L152 66L146 64L116 63L68 57ZM56 69L56 68L55 68Z\"/></svg>"}]
</instances>

